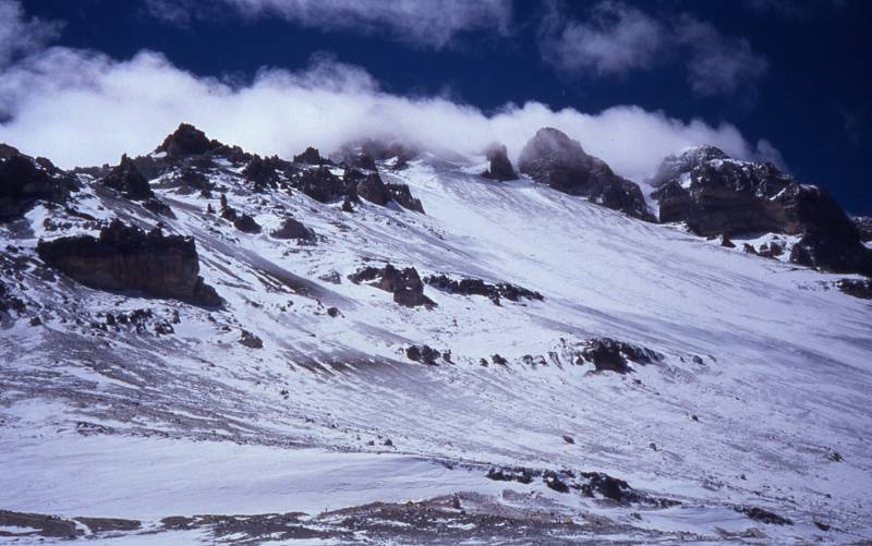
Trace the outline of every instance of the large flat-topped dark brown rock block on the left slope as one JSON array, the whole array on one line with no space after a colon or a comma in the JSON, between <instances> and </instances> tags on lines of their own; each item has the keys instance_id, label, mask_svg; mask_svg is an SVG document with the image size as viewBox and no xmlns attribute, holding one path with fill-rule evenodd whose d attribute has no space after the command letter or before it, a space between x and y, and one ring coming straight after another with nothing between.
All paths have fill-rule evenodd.
<instances>
[{"instance_id":1,"label":"large flat-topped dark brown rock block on the left slope","mask_svg":"<svg viewBox=\"0 0 872 546\"><path fill-rule=\"evenodd\" d=\"M113 220L90 235L39 241L39 257L74 280L98 289L140 291L195 305L218 306L215 289L203 281L194 240L148 233Z\"/></svg>"}]
</instances>

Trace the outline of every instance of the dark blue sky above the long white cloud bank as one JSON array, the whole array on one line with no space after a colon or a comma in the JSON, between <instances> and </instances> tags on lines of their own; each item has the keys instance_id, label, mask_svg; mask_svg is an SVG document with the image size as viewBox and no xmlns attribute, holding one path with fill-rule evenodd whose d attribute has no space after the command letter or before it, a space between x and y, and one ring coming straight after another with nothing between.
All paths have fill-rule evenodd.
<instances>
[{"instance_id":1,"label":"dark blue sky above the long white cloud bank","mask_svg":"<svg viewBox=\"0 0 872 546\"><path fill-rule=\"evenodd\" d=\"M185 0L179 0L179 5L184 4ZM342 62L365 68L387 92L447 92L452 99L484 110L526 100L584 112L638 105L682 120L726 121L751 142L771 141L790 172L828 189L848 210L872 214L867 181L872 168L872 2L623 2L611 4L613 11L601 14L600 23L591 23L597 16L595 5L602 7L519 0L512 3L507 32L475 27L457 34L444 47L432 47L398 40L397 33L377 27L366 33L322 31L288 17L243 17L229 8L192 12L184 21L168 23L155 17L155 4L145 1L23 2L31 15L66 22L59 45L95 49L117 59L153 49L198 75L245 81L259 66L296 70L314 52L330 52ZM542 53L543 21L555 9L559 9L558 26L571 21L589 28L597 24L610 28L616 10L643 15L667 40L680 45L662 47L644 62L631 62L625 69L604 71L602 64L588 64L561 70L544 61ZM688 38L682 29L688 21L706 28L707 36L719 36L715 45L747 40L752 58L765 69L747 77L737 73L737 78L744 80L734 89L694 90L687 64L694 54L689 51L699 52L699 48L697 38ZM712 66L720 70L716 61L708 70ZM724 70L729 70L728 62Z\"/></svg>"}]
</instances>

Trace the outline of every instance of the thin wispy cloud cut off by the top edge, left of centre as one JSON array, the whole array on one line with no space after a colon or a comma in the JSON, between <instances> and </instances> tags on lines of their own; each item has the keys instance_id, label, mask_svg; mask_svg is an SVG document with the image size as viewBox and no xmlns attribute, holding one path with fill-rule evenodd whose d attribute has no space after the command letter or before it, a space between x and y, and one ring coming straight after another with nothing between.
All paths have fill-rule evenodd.
<instances>
[{"instance_id":1,"label":"thin wispy cloud cut off by the top edge, left of centre","mask_svg":"<svg viewBox=\"0 0 872 546\"><path fill-rule=\"evenodd\" d=\"M146 7L152 15L177 24L231 8L246 17L279 16L325 31L384 33L433 49L469 31L507 35L512 20L511 0L146 0Z\"/></svg>"}]
</instances>

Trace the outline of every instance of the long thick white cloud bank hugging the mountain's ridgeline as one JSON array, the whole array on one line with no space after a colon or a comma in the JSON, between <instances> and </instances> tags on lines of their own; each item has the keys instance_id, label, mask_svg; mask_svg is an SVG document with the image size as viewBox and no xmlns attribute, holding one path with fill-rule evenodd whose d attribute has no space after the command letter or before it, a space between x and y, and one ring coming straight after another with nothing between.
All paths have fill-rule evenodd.
<instances>
[{"instance_id":1,"label":"long thick white cloud bank hugging the mountain's ridgeline","mask_svg":"<svg viewBox=\"0 0 872 546\"><path fill-rule=\"evenodd\" d=\"M0 123L0 142L68 168L150 151L182 121L214 138L282 157L307 145L329 151L366 136L461 153L499 141L517 156L537 129L550 125L631 178L702 143L741 158L758 153L732 125L683 122L633 106L588 114L528 102L488 116L444 97L391 95L363 69L329 57L315 58L302 72L262 70L238 86L194 76L152 51L118 61L50 48L0 76L0 119L8 119Z\"/></svg>"}]
</instances>

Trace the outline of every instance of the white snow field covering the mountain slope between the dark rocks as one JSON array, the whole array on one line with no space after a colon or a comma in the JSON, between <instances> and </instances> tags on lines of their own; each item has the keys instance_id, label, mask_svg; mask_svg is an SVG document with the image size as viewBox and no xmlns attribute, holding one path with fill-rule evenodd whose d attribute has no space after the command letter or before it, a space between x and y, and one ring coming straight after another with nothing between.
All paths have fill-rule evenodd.
<instances>
[{"instance_id":1,"label":"white snow field covering the mountain slope between the dark rocks","mask_svg":"<svg viewBox=\"0 0 872 546\"><path fill-rule=\"evenodd\" d=\"M215 173L259 234L237 231L205 213L207 199L161 190L160 180L153 186L175 219L93 189L75 194L94 217L159 220L165 232L194 236L201 275L226 305L207 311L25 274L43 325L0 329L0 509L142 521L136 531L87 534L128 544L218 541L206 526L161 530L168 517L300 511L315 521L451 495L492 511L546 506L581 531L511 542L477 520L446 520L426 536L403 535L410 523L397 521L391 539L436 542L475 525L476 541L502 544L872 538L872 306L832 289L844 276L725 248L525 178L485 180L481 159L425 156L383 172L409 184L425 215L367 203L347 214L299 192L244 190L229 168ZM217 195L209 202L217 206ZM1 240L34 256L39 236L57 236L46 219L62 214L38 206L0 226ZM314 229L317 244L270 238L283 216ZM63 234L88 231L71 225ZM511 282L544 300L497 306L426 287L437 305L408 308L347 279L387 262L422 277ZM340 283L322 280L331 271ZM90 325L136 308L156 320L178 312L180 323L172 335ZM263 348L240 344L243 329ZM577 344L597 337L662 359L629 374L574 364ZM451 362L412 362L412 344L450 351ZM486 477L516 466L602 472L680 505ZM34 539L10 529L0 542ZM389 542L384 533L353 541ZM296 544L257 537L272 539Z\"/></svg>"}]
</instances>

